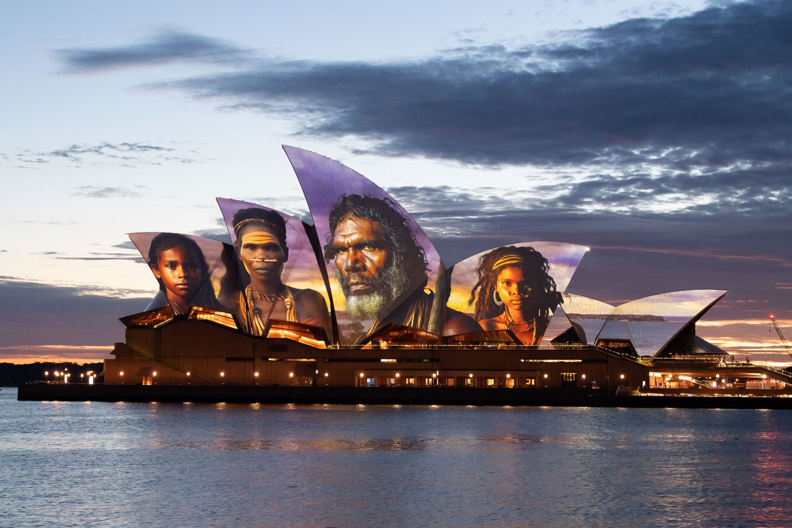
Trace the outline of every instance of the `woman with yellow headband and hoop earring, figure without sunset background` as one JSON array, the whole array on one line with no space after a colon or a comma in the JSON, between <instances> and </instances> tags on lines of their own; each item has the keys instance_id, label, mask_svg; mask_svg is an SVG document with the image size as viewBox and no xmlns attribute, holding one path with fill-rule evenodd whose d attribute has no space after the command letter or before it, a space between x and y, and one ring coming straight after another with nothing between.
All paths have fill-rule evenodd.
<instances>
[{"instance_id":1,"label":"woman with yellow headband and hoop earring, figure without sunset background","mask_svg":"<svg viewBox=\"0 0 792 528\"><path fill-rule=\"evenodd\" d=\"M520 343L538 345L563 302L549 270L547 259L531 247L508 245L485 253L468 300L476 302L474 319L482 329L508 330Z\"/></svg>"}]
</instances>

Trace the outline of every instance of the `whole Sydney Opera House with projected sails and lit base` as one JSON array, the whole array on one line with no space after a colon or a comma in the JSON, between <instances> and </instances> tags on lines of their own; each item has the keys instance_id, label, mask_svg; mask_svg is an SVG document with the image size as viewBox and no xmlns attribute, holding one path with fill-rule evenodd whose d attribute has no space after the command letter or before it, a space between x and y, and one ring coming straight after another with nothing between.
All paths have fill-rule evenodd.
<instances>
[{"instance_id":1,"label":"whole Sydney Opera House with projected sails and lit base","mask_svg":"<svg viewBox=\"0 0 792 528\"><path fill-rule=\"evenodd\" d=\"M220 198L230 245L129 235L158 292L120 319L126 342L105 360L106 384L761 394L792 383L696 336L726 291L611 306L569 291L588 248L557 241L451 264L382 188L337 161L284 150L310 224ZM569 329L544 340L554 313Z\"/></svg>"}]
</instances>

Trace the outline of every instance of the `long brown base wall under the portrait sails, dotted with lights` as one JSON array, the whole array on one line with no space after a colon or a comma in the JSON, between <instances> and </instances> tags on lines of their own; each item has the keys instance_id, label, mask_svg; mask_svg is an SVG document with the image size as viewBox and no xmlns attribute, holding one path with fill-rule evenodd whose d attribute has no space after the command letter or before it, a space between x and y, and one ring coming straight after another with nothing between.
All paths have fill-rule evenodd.
<instances>
[{"instance_id":1,"label":"long brown base wall under the portrait sails, dotted with lights","mask_svg":"<svg viewBox=\"0 0 792 528\"><path fill-rule=\"evenodd\" d=\"M641 386L649 373L591 347L322 350L190 320L128 329L127 344L116 344L114 355L105 360L107 383L141 383L145 376L154 384L430 386L438 379L440 386L612 391Z\"/></svg>"}]
</instances>

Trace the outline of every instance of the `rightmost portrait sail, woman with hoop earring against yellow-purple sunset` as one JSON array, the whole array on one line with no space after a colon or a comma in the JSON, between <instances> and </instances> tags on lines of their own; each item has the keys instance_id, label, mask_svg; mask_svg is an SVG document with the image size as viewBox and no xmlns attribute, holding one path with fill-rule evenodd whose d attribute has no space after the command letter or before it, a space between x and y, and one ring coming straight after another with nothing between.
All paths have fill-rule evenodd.
<instances>
[{"instance_id":1,"label":"rightmost portrait sail, woman with hoop earring against yellow-purple sunset","mask_svg":"<svg viewBox=\"0 0 792 528\"><path fill-rule=\"evenodd\" d=\"M470 256L453 267L448 306L470 313L485 331L505 330L521 344L538 345L586 250L539 241Z\"/></svg>"}]
</instances>

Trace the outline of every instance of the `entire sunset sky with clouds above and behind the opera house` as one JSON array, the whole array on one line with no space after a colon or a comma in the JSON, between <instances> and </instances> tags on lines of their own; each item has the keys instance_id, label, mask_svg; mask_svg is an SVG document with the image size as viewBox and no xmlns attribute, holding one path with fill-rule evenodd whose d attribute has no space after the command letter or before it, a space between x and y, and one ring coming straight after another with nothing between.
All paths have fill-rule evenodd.
<instances>
[{"instance_id":1,"label":"entire sunset sky with clouds above and behind the opera house","mask_svg":"<svg viewBox=\"0 0 792 528\"><path fill-rule=\"evenodd\" d=\"M109 357L158 287L126 233L227 237L216 196L308 219L281 144L385 188L447 264L586 245L568 291L729 290L699 335L792 361L792 2L3 12L0 362Z\"/></svg>"}]
</instances>

